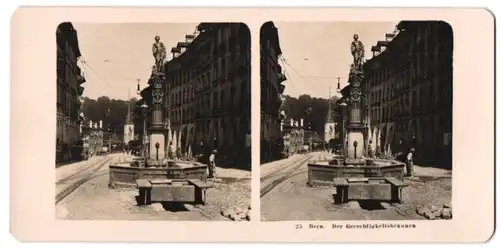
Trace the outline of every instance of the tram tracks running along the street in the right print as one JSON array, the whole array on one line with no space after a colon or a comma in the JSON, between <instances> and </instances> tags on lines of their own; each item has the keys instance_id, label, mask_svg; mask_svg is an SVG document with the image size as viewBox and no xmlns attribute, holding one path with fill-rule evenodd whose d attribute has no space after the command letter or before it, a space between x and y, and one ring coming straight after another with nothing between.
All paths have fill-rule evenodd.
<instances>
[{"instance_id":1,"label":"tram tracks running along the street in the right print","mask_svg":"<svg viewBox=\"0 0 500 248\"><path fill-rule=\"evenodd\" d=\"M261 188L260 198L267 195L269 192L271 192L274 188L283 183L285 180L293 177L294 172L297 172L297 169L299 169L304 163L307 163L313 156L314 156L313 154L308 154L304 158L292 162L289 166L285 167L286 168L285 172L283 172L281 168L278 168L276 171L271 172L267 174L265 177L261 178L261 184L262 184L263 181L269 180L272 177L276 177L276 179L272 180L270 183ZM280 175L280 173L282 174Z\"/></svg>"}]
</instances>

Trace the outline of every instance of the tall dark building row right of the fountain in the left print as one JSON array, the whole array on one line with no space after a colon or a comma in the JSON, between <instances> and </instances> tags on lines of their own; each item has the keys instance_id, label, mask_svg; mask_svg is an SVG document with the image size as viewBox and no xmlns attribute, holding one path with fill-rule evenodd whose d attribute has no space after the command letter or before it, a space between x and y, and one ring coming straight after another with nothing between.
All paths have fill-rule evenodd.
<instances>
[{"instance_id":1,"label":"tall dark building row right of the fountain in the left print","mask_svg":"<svg viewBox=\"0 0 500 248\"><path fill-rule=\"evenodd\" d=\"M217 149L219 163L250 168L250 31L201 23L185 38L164 68L166 144L179 155Z\"/></svg>"}]
</instances>

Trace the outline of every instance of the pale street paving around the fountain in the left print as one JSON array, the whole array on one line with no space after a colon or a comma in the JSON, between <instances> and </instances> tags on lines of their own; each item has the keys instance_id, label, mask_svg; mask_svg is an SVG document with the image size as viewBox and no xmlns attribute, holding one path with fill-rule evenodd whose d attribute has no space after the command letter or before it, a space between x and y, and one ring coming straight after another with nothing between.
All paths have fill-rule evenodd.
<instances>
[{"instance_id":1,"label":"pale street paving around the fountain in the left print","mask_svg":"<svg viewBox=\"0 0 500 248\"><path fill-rule=\"evenodd\" d=\"M222 208L250 205L250 172L220 169L220 182L207 191L205 206L190 204L137 206L136 189L109 189L109 169L113 163L127 159L122 154L110 155L107 165L94 173L90 180L78 187L56 205L58 219L67 220L227 220ZM95 159L96 161L101 161ZM71 165L68 165L71 166ZM75 170L80 169L74 166ZM61 167L62 169L64 167ZM58 169L59 170L59 169ZM67 168L65 170L68 170ZM68 173L57 173L58 175ZM59 178L58 178L59 179Z\"/></svg>"}]
</instances>

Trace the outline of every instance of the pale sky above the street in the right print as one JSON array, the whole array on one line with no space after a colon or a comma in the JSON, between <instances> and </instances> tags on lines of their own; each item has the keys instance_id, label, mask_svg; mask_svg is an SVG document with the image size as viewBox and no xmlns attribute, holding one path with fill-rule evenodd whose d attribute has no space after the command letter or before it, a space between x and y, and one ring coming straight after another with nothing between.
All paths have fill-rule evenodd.
<instances>
[{"instance_id":1,"label":"pale sky above the street in the right print","mask_svg":"<svg viewBox=\"0 0 500 248\"><path fill-rule=\"evenodd\" d=\"M298 97L328 98L336 91L337 77L340 87L347 84L349 66L353 61L351 42L358 34L365 47L365 59L372 57L371 46L385 40L385 34L393 32L395 22L275 22L282 56L289 64L282 64L288 80L284 94Z\"/></svg>"}]
</instances>

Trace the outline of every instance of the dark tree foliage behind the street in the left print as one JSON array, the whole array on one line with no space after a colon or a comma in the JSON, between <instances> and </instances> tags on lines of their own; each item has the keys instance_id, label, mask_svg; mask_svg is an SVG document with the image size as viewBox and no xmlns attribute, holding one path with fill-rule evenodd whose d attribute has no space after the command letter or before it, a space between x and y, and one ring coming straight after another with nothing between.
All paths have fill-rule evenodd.
<instances>
[{"instance_id":1,"label":"dark tree foliage behind the street in the left print","mask_svg":"<svg viewBox=\"0 0 500 248\"><path fill-rule=\"evenodd\" d=\"M133 114L136 98L130 99L130 112ZM82 112L85 120L98 122L102 120L104 131L111 131L118 135L123 134L128 109L128 101L110 99L101 96L97 99L83 97ZM133 121L133 116L131 116Z\"/></svg>"}]
</instances>

